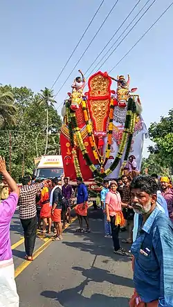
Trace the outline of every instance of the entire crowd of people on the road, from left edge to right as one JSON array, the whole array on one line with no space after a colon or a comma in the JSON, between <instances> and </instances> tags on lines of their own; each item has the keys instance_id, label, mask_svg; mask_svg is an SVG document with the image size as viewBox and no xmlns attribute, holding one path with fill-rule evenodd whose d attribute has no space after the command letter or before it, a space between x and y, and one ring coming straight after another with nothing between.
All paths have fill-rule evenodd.
<instances>
[{"instance_id":1,"label":"entire crowd of people on the road, from left edge to right","mask_svg":"<svg viewBox=\"0 0 173 307\"><path fill-rule=\"evenodd\" d=\"M69 178L61 185L57 178L35 183L30 176L22 178L22 186L6 171L6 162L0 157L0 306L19 306L10 247L10 221L17 204L24 229L26 261L33 261L37 228L42 221L42 234L55 232L53 240L62 240L65 223L71 223L72 187ZM88 190L77 178L77 202L80 233L89 233ZM6 189L6 191L3 189ZM104 180L101 191L104 214L104 236L112 238L113 250L133 261L134 295L131 307L173 306L173 190L170 178L156 174L135 176L124 174L116 180ZM86 224L84 230L83 221ZM53 224L53 227L52 227ZM119 233L127 230L130 251L121 247ZM129 245L127 245L129 247Z\"/></svg>"}]
</instances>

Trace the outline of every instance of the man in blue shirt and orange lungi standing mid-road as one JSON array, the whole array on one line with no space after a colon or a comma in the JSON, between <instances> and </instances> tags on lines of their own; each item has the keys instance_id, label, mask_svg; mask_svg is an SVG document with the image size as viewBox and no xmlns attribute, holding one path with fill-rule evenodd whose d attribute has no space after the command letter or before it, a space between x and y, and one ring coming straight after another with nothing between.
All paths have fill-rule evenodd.
<instances>
[{"instance_id":1,"label":"man in blue shirt and orange lungi standing mid-road","mask_svg":"<svg viewBox=\"0 0 173 307\"><path fill-rule=\"evenodd\" d=\"M77 191L77 205L75 207L75 212L78 215L78 221L80 224L80 228L76 230L77 232L84 232L82 227L82 216L84 218L84 221L86 222L86 230L85 232L90 232L89 229L89 217L88 217L88 191L86 189L86 185L82 182L82 178L78 177L76 178L77 185L78 185L78 191Z\"/></svg>"}]
</instances>

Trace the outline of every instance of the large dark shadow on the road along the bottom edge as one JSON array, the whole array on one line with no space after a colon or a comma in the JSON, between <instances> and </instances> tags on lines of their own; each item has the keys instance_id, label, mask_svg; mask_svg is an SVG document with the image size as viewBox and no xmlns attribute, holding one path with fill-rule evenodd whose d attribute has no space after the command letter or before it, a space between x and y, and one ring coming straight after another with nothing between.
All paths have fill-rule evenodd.
<instances>
[{"instance_id":1,"label":"large dark shadow on the road along the bottom edge","mask_svg":"<svg viewBox=\"0 0 173 307\"><path fill-rule=\"evenodd\" d=\"M79 286L55 291L43 291L42 296L58 301L63 307L127 307L129 299L126 297L107 297L107 295L93 294L91 297L84 297L82 292L88 281L83 281Z\"/></svg>"}]
</instances>

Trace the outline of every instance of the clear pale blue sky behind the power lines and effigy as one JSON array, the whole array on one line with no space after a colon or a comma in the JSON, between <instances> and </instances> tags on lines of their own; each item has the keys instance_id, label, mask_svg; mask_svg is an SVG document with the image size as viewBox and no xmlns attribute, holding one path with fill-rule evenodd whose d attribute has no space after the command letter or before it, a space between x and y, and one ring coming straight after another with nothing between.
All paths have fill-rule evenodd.
<instances>
[{"instance_id":1,"label":"clear pale blue sky behind the power lines and effigy","mask_svg":"<svg viewBox=\"0 0 173 307\"><path fill-rule=\"evenodd\" d=\"M147 6L152 1L150 0ZM104 0L98 15L55 84L54 93L59 91L115 2L115 0ZM84 57L57 95L58 112L61 111L60 104L64 102L66 93L71 91L74 78L79 75L78 69L85 72L89 68L137 2L137 0L118 1ZM118 39L146 2L147 0L140 0L111 44ZM51 88L100 3L101 0L1 0L0 83L26 86L35 92L44 89L45 86ZM100 70L111 71L111 68L138 41L170 3L172 0L156 0ZM130 74L131 88L138 87L138 94L143 105L143 119L147 127L151 122L158 122L161 115L167 115L172 108L172 94L168 91L169 86L172 86L173 71L172 16L173 6L111 72L113 77ZM111 44L104 49L104 53ZM169 86L165 86L168 84ZM114 88L112 86L112 89L115 88L116 85ZM145 140L143 152L145 157L148 156L147 147L150 144L149 139Z\"/></svg>"}]
</instances>

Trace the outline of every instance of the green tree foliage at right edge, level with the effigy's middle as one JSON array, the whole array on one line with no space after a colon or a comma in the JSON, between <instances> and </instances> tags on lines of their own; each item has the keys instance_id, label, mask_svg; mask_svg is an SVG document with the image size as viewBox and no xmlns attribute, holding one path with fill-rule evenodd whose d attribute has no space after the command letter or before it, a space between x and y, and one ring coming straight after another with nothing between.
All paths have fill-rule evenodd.
<instances>
[{"instance_id":1,"label":"green tree foliage at right edge, level with the effigy's middle","mask_svg":"<svg viewBox=\"0 0 173 307\"><path fill-rule=\"evenodd\" d=\"M152 154L159 154L167 165L173 166L173 109L160 122L149 127L149 137L155 146L149 147Z\"/></svg>"}]
</instances>

